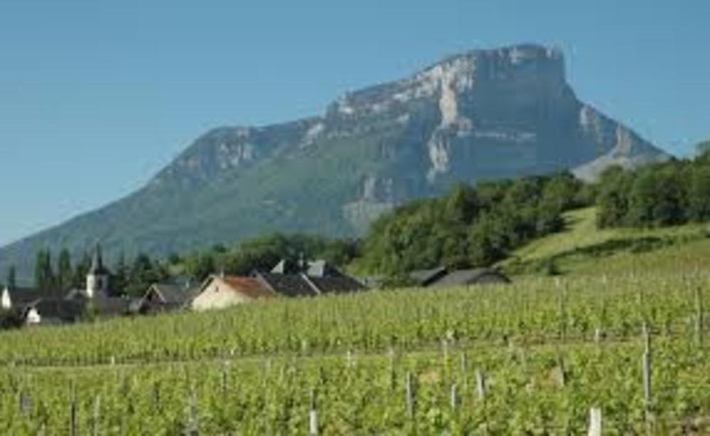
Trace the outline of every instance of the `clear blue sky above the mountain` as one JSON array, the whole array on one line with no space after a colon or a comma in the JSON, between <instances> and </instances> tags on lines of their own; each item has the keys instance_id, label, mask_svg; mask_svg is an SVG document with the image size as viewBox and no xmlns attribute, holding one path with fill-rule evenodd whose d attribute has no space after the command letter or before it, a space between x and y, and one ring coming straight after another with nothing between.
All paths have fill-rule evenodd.
<instances>
[{"instance_id":1,"label":"clear blue sky above the mountain","mask_svg":"<svg viewBox=\"0 0 710 436\"><path fill-rule=\"evenodd\" d=\"M583 101L710 138L710 1L1 0L0 244L129 194L205 130L321 113L445 55L557 45Z\"/></svg>"}]
</instances>

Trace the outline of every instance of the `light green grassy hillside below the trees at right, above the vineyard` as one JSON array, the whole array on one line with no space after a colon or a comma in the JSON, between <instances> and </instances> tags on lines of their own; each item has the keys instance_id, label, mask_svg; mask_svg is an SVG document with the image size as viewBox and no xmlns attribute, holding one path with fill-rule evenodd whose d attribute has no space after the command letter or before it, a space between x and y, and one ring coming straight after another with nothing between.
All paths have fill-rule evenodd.
<instances>
[{"instance_id":1,"label":"light green grassy hillside below the trees at right, above the vineyard","mask_svg":"<svg viewBox=\"0 0 710 436\"><path fill-rule=\"evenodd\" d=\"M564 214L566 228L530 242L499 266L516 274L544 273L550 265L562 274L613 274L644 270L709 270L710 226L596 228L596 208Z\"/></svg>"}]
</instances>

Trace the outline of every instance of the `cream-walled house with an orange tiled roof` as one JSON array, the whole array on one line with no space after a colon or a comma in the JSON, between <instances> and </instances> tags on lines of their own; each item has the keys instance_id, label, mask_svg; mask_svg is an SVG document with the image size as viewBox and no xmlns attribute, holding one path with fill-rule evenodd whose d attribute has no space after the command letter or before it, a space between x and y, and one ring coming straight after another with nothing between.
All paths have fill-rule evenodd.
<instances>
[{"instance_id":1,"label":"cream-walled house with an orange tiled roof","mask_svg":"<svg viewBox=\"0 0 710 436\"><path fill-rule=\"evenodd\" d=\"M271 289L252 277L213 274L202 283L199 294L190 302L190 308L206 311L275 296Z\"/></svg>"}]
</instances>

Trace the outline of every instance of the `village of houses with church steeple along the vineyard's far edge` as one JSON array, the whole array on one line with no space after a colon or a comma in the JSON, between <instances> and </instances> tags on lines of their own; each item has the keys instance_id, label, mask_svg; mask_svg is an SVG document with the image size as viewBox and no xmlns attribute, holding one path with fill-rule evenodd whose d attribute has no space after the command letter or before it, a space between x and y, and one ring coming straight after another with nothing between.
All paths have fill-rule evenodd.
<instances>
[{"instance_id":1,"label":"village of houses with church steeple along the vineyard's far edge","mask_svg":"<svg viewBox=\"0 0 710 436\"><path fill-rule=\"evenodd\" d=\"M408 278L413 286L422 288L510 282L495 269L484 268L438 267L409 272ZM269 298L317 297L368 291L379 286L378 279L357 279L322 259L295 262L282 259L271 270L254 270L249 276L219 272L210 274L202 283L175 277L151 284L140 297L115 296L111 271L104 265L101 247L97 245L84 289L60 293L6 286L0 297L0 311L13 314L15 327L30 327L172 311L207 311Z\"/></svg>"}]
</instances>

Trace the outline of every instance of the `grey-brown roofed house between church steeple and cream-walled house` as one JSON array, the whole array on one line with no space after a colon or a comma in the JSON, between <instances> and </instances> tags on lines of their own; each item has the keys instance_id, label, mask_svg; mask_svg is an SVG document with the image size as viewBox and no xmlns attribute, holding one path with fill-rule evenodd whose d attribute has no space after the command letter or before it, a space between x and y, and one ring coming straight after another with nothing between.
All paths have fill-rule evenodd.
<instances>
[{"instance_id":1,"label":"grey-brown roofed house between church steeple and cream-walled house","mask_svg":"<svg viewBox=\"0 0 710 436\"><path fill-rule=\"evenodd\" d=\"M131 302L131 313L157 313L187 308L200 293L200 286L190 286L190 281L179 283L154 283L146 294Z\"/></svg>"}]
</instances>

